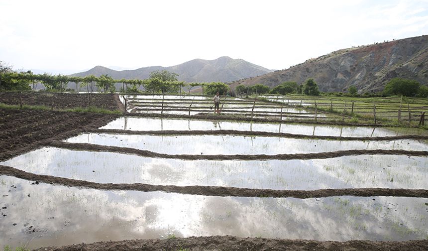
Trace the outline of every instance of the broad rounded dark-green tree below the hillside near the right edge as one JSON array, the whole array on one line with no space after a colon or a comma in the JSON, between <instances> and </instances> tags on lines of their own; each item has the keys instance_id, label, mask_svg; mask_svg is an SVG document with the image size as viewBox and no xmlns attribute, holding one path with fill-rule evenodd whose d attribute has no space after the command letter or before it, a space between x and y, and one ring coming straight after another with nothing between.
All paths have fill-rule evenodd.
<instances>
[{"instance_id":1,"label":"broad rounded dark-green tree below the hillside near the right edge","mask_svg":"<svg viewBox=\"0 0 428 251\"><path fill-rule=\"evenodd\" d=\"M403 95L415 97L415 95L418 94L420 85L421 84L416 80L393 78L385 85L383 94L387 96Z\"/></svg>"}]
</instances>

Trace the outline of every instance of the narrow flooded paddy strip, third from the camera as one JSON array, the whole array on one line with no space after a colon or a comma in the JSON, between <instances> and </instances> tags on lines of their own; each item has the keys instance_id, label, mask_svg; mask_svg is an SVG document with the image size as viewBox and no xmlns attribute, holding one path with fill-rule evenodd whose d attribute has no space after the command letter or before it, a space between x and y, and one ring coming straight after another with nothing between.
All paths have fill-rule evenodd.
<instances>
[{"instance_id":1,"label":"narrow flooded paddy strip, third from the camera","mask_svg":"<svg viewBox=\"0 0 428 251\"><path fill-rule=\"evenodd\" d=\"M234 155L293 154L360 149L418 149L428 151L428 144L413 139L384 141L339 141L326 139L295 139L240 135L132 135L84 133L65 140L70 143L90 143L130 147L166 154ZM189 142L192 142L189 144Z\"/></svg>"}]
</instances>

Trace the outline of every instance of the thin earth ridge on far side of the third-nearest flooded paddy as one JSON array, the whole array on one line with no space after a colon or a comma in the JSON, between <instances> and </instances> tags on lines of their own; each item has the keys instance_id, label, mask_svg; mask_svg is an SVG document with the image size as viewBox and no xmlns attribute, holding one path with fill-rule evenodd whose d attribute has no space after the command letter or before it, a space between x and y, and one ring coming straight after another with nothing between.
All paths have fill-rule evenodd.
<instances>
[{"instance_id":1,"label":"thin earth ridge on far side of the third-nearest flooded paddy","mask_svg":"<svg viewBox=\"0 0 428 251\"><path fill-rule=\"evenodd\" d=\"M401 140L417 139L427 140L428 136L421 135L400 135L400 136L375 136L375 137L340 137L340 136L323 136L323 135L306 135L292 134L285 132L268 132L268 131L245 131L245 130L122 130L122 129L90 129L87 132L93 133L114 133L130 135L250 135L264 137L284 137L298 139L330 139L330 140L361 140L361 141L381 141L381 140Z\"/></svg>"}]
</instances>

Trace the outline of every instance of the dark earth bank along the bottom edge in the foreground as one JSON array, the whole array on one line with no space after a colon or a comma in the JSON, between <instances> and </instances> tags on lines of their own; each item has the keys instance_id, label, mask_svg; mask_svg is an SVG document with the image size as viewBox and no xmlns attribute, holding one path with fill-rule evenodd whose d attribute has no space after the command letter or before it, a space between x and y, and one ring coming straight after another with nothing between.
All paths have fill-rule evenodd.
<instances>
[{"instance_id":1,"label":"dark earth bank along the bottom edge in the foreground","mask_svg":"<svg viewBox=\"0 0 428 251\"><path fill-rule=\"evenodd\" d=\"M427 251L428 241L407 242L319 242L309 240L210 236L165 240L126 240L77 244L36 251Z\"/></svg>"}]
</instances>

